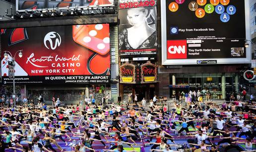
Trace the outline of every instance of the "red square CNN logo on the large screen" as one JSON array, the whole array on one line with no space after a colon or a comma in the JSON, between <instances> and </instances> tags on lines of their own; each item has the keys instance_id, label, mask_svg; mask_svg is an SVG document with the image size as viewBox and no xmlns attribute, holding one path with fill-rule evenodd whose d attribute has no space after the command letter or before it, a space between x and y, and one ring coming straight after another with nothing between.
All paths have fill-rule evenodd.
<instances>
[{"instance_id":1,"label":"red square CNN logo on the large screen","mask_svg":"<svg viewBox=\"0 0 256 152\"><path fill-rule=\"evenodd\" d=\"M187 40L168 40L167 59L187 58Z\"/></svg>"}]
</instances>

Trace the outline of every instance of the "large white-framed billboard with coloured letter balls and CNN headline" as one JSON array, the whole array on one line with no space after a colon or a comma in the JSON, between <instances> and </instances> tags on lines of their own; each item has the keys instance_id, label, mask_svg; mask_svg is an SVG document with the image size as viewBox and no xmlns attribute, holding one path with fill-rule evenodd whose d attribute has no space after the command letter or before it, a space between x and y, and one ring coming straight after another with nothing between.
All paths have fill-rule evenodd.
<instances>
[{"instance_id":1,"label":"large white-framed billboard with coloured letter balls and CNN headline","mask_svg":"<svg viewBox=\"0 0 256 152\"><path fill-rule=\"evenodd\" d=\"M249 0L162 1L162 64L250 63L248 8Z\"/></svg>"}]
</instances>

